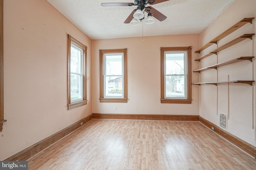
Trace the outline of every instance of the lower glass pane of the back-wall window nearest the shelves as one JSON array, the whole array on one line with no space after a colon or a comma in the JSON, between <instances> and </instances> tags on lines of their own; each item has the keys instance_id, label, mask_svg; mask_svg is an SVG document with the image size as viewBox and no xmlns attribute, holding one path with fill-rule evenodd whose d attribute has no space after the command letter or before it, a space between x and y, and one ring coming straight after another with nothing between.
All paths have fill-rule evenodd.
<instances>
[{"instance_id":1,"label":"lower glass pane of the back-wall window nearest the shelves","mask_svg":"<svg viewBox=\"0 0 256 170\"><path fill-rule=\"evenodd\" d=\"M185 76L166 76L166 98L184 98L185 97Z\"/></svg>"}]
</instances>

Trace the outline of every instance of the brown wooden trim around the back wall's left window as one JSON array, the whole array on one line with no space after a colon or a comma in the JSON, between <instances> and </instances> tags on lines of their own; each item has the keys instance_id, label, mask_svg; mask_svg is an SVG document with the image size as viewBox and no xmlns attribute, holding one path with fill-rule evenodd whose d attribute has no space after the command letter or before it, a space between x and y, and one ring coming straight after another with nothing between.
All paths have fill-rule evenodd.
<instances>
[{"instance_id":1,"label":"brown wooden trim around the back wall's left window","mask_svg":"<svg viewBox=\"0 0 256 170\"><path fill-rule=\"evenodd\" d=\"M117 102L117 103L126 103L128 101L127 98L127 49L107 49L107 50L99 50L100 52L100 102ZM103 82L103 65L104 65L104 54L106 53L124 53L124 98L104 98L104 82Z\"/></svg>"}]
</instances>

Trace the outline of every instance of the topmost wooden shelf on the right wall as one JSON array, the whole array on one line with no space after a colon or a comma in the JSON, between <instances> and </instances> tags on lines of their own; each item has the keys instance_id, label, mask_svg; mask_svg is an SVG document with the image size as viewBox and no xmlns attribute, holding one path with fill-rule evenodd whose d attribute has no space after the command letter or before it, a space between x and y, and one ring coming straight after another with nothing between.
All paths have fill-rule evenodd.
<instances>
[{"instance_id":1,"label":"topmost wooden shelf on the right wall","mask_svg":"<svg viewBox=\"0 0 256 170\"><path fill-rule=\"evenodd\" d=\"M222 38L226 37L227 35L229 35L230 33L234 32L234 31L236 31L237 29L239 29L240 27L242 27L246 23L248 23L248 22L252 23L253 19L254 18L244 18L244 19L240 20L238 23L236 23L235 25L233 25L232 27L230 27L229 29L224 31L218 37L215 37L212 41L210 41L209 43L207 43L206 45L204 45L203 47L201 47L200 49L195 51L195 53L201 53L201 51L210 47L212 44L217 44L217 42L220 41Z\"/></svg>"}]
</instances>

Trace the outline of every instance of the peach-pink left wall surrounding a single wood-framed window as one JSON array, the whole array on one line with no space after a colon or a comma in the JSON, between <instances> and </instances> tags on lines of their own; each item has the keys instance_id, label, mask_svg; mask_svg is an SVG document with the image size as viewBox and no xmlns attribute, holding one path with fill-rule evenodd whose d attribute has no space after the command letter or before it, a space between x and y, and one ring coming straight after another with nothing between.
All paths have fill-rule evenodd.
<instances>
[{"instance_id":1,"label":"peach-pink left wall surrounding a single wood-framed window","mask_svg":"<svg viewBox=\"0 0 256 170\"><path fill-rule=\"evenodd\" d=\"M88 104L67 110L67 35L88 47ZM92 41L46 0L4 1L0 160L92 113Z\"/></svg>"}]
</instances>

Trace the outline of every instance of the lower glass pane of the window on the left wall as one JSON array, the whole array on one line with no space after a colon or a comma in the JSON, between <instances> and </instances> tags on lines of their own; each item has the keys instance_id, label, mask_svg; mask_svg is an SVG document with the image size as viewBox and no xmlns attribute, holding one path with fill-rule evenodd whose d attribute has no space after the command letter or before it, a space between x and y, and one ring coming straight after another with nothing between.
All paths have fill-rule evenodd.
<instances>
[{"instance_id":1,"label":"lower glass pane of the window on the left wall","mask_svg":"<svg viewBox=\"0 0 256 170\"><path fill-rule=\"evenodd\" d=\"M81 75L70 74L70 92L72 102L82 100L83 90Z\"/></svg>"}]
</instances>

